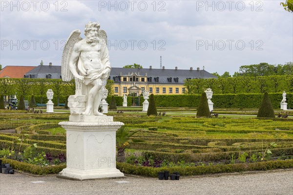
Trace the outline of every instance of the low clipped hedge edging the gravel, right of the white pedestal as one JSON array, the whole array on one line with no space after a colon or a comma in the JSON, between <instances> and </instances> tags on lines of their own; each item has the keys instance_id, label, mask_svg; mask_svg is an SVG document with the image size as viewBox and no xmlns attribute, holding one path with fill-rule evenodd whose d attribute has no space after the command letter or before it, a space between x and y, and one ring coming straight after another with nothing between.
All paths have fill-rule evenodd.
<instances>
[{"instance_id":1,"label":"low clipped hedge edging the gravel, right of the white pedestal","mask_svg":"<svg viewBox=\"0 0 293 195\"><path fill-rule=\"evenodd\" d=\"M246 172L246 171L266 171L272 169L288 169L293 168L293 159L291 160L275 160L264 161L255 163L241 163L241 164L221 164L213 166L195 166L195 167L170 167L170 168L153 168L135 166L126 163L117 162L117 169L125 174L141 175L157 177L158 172L169 171L179 172L181 176L196 176L206 174L218 174L218 173L234 173L234 172Z\"/></svg>"}]
</instances>

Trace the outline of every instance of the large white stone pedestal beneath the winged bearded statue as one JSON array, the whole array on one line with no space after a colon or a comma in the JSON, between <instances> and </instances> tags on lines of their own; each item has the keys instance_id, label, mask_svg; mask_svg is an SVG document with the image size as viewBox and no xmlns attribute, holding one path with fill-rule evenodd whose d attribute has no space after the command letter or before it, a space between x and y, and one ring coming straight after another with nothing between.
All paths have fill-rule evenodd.
<instances>
[{"instance_id":1,"label":"large white stone pedestal beneath the winged bearded statue","mask_svg":"<svg viewBox=\"0 0 293 195\"><path fill-rule=\"evenodd\" d=\"M116 130L124 125L113 117L71 115L59 123L66 130L66 168L58 177L75 180L118 178Z\"/></svg>"}]
</instances>

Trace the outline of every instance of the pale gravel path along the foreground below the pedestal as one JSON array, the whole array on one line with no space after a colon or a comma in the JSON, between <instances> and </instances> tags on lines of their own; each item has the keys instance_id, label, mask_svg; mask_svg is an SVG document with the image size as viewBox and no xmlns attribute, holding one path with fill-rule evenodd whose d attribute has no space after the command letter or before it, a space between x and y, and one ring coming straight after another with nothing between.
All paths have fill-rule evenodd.
<instances>
[{"instance_id":1,"label":"pale gravel path along the foreground below the pedestal","mask_svg":"<svg viewBox=\"0 0 293 195\"><path fill-rule=\"evenodd\" d=\"M126 176L73 181L56 176L0 174L0 195L293 195L293 169L180 180Z\"/></svg>"}]
</instances>

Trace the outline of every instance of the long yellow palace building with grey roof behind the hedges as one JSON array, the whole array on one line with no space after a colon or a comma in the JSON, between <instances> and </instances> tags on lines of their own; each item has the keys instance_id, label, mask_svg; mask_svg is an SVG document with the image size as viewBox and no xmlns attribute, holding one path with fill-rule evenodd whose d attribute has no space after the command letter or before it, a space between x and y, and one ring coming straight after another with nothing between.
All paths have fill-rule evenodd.
<instances>
[{"instance_id":1,"label":"long yellow palace building with grey roof behind the hedges","mask_svg":"<svg viewBox=\"0 0 293 195\"><path fill-rule=\"evenodd\" d=\"M154 95L184 94L184 80L192 78L217 78L205 70L114 68L109 79L114 80L114 95L123 96L134 93L139 96L145 90Z\"/></svg>"}]
</instances>

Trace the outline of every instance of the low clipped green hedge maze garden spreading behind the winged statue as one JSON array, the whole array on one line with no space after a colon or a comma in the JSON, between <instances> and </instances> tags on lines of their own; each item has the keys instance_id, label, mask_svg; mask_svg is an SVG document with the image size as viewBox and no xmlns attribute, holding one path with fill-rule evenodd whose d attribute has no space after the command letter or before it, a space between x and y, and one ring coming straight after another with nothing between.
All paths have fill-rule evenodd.
<instances>
[{"instance_id":1,"label":"low clipped green hedge maze garden spreading behind the winged statue","mask_svg":"<svg viewBox=\"0 0 293 195\"><path fill-rule=\"evenodd\" d=\"M133 138L143 142L130 142L126 163L117 163L117 168L127 174L157 176L159 171L169 170L188 176L293 167L292 117L147 117L134 112L108 115L124 122L131 131L140 130ZM52 161L66 156L66 133L58 123L68 117L69 114L58 113L1 113L0 130L15 129L12 133L0 133L3 162L38 175L60 172L64 163L42 168L16 154L37 144L35 153L50 154ZM1 150L7 148L15 150L15 156L3 156Z\"/></svg>"}]
</instances>

